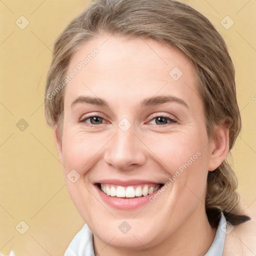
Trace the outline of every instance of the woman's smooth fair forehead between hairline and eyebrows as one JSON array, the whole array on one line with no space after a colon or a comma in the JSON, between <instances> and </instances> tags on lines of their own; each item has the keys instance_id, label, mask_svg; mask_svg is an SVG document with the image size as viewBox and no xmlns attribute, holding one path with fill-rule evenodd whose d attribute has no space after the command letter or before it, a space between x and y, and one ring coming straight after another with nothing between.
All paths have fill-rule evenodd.
<instances>
[{"instance_id":1,"label":"woman's smooth fair forehead between hairline and eyebrows","mask_svg":"<svg viewBox=\"0 0 256 256\"><path fill-rule=\"evenodd\" d=\"M134 100L134 94L141 98L170 92L198 96L188 57L154 39L102 34L75 52L66 74L74 70L76 74L65 88L65 101L80 94L104 95L120 102L122 98Z\"/></svg>"}]
</instances>

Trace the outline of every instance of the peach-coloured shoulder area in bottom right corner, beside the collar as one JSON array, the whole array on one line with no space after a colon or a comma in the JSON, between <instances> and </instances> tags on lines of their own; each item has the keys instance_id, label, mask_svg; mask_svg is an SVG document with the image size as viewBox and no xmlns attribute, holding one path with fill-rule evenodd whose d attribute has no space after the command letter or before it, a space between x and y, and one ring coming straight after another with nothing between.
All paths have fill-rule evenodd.
<instances>
[{"instance_id":1,"label":"peach-coloured shoulder area in bottom right corner, beside the collar","mask_svg":"<svg viewBox=\"0 0 256 256\"><path fill-rule=\"evenodd\" d=\"M256 220L250 219L238 225L227 225L223 256L256 255Z\"/></svg>"}]
</instances>

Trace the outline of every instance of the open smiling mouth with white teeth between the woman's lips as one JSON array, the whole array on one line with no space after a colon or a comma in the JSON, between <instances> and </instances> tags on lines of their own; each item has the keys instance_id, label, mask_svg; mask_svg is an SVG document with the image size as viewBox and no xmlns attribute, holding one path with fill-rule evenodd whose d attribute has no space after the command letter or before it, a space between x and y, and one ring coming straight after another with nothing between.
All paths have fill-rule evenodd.
<instances>
[{"instance_id":1,"label":"open smiling mouth with white teeth between the woman's lips","mask_svg":"<svg viewBox=\"0 0 256 256\"><path fill-rule=\"evenodd\" d=\"M120 186L106 183L95 183L95 185L106 195L122 198L134 198L151 194L163 184Z\"/></svg>"}]
</instances>

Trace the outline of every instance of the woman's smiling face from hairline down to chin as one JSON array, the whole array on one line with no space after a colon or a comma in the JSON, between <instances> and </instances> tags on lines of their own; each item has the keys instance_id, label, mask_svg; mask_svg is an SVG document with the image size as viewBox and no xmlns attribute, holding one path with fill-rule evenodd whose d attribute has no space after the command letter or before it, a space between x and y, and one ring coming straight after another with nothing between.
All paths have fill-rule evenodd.
<instances>
[{"instance_id":1,"label":"woman's smiling face from hairline down to chin","mask_svg":"<svg viewBox=\"0 0 256 256\"><path fill-rule=\"evenodd\" d=\"M103 34L72 56L67 75L57 145L94 237L147 247L189 226L217 166L188 58L156 40Z\"/></svg>"}]
</instances>

